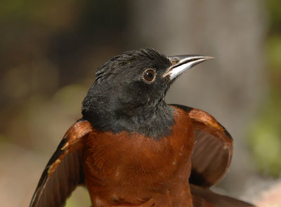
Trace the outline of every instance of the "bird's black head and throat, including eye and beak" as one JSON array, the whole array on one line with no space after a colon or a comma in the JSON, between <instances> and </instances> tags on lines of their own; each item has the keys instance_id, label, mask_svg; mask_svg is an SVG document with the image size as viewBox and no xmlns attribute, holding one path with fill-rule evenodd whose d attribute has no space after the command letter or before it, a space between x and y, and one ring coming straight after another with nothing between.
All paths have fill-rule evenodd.
<instances>
[{"instance_id":1,"label":"bird's black head and throat, including eye and beak","mask_svg":"<svg viewBox=\"0 0 281 207\"><path fill-rule=\"evenodd\" d=\"M200 55L166 57L153 49L129 51L105 62L83 102L83 118L100 131L170 133L174 109L164 96L183 70L207 60Z\"/></svg>"}]
</instances>

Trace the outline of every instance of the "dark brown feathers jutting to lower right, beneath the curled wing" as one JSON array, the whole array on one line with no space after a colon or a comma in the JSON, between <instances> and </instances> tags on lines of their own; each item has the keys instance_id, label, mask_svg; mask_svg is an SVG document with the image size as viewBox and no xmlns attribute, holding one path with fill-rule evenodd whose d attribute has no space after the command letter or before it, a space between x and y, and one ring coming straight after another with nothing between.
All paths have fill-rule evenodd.
<instances>
[{"instance_id":1,"label":"dark brown feathers jutting to lower right, beneath the curled wing","mask_svg":"<svg viewBox=\"0 0 281 207\"><path fill-rule=\"evenodd\" d=\"M194 207L254 207L254 205L250 203L233 199L230 196L216 194L209 189L196 185L190 185L190 191Z\"/></svg>"}]
</instances>

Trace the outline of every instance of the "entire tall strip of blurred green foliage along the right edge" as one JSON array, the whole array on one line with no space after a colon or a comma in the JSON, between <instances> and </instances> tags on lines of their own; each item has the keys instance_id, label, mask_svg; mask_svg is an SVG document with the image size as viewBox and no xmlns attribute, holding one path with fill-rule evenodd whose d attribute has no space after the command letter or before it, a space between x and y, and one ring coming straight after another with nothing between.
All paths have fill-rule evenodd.
<instances>
[{"instance_id":1,"label":"entire tall strip of blurred green foliage along the right edge","mask_svg":"<svg viewBox=\"0 0 281 207\"><path fill-rule=\"evenodd\" d=\"M251 127L250 145L258 168L266 175L281 175L281 1L269 0L266 55L269 93Z\"/></svg>"}]
</instances>

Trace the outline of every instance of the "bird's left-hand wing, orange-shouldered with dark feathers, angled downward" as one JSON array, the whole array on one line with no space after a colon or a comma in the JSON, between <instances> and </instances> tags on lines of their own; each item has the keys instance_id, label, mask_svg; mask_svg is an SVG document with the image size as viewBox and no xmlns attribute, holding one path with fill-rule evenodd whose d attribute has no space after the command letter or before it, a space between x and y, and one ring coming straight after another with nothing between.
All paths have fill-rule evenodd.
<instances>
[{"instance_id":1,"label":"bird's left-hand wing, orange-shouldered with dark feathers, angled downward","mask_svg":"<svg viewBox=\"0 0 281 207\"><path fill-rule=\"evenodd\" d=\"M63 206L75 187L84 182L82 140L91 131L91 123L83 119L68 129L41 175L30 207Z\"/></svg>"}]
</instances>

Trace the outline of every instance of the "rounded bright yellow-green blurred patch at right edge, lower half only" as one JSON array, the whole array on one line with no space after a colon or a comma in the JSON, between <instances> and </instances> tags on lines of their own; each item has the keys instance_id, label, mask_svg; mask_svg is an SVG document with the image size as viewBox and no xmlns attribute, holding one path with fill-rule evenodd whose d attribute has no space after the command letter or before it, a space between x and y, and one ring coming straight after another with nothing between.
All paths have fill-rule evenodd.
<instances>
[{"instance_id":1,"label":"rounded bright yellow-green blurred patch at right edge, lower half only","mask_svg":"<svg viewBox=\"0 0 281 207\"><path fill-rule=\"evenodd\" d=\"M278 105L278 103L279 105ZM268 100L252 128L250 142L259 169L266 175L280 176L280 100Z\"/></svg>"}]
</instances>

